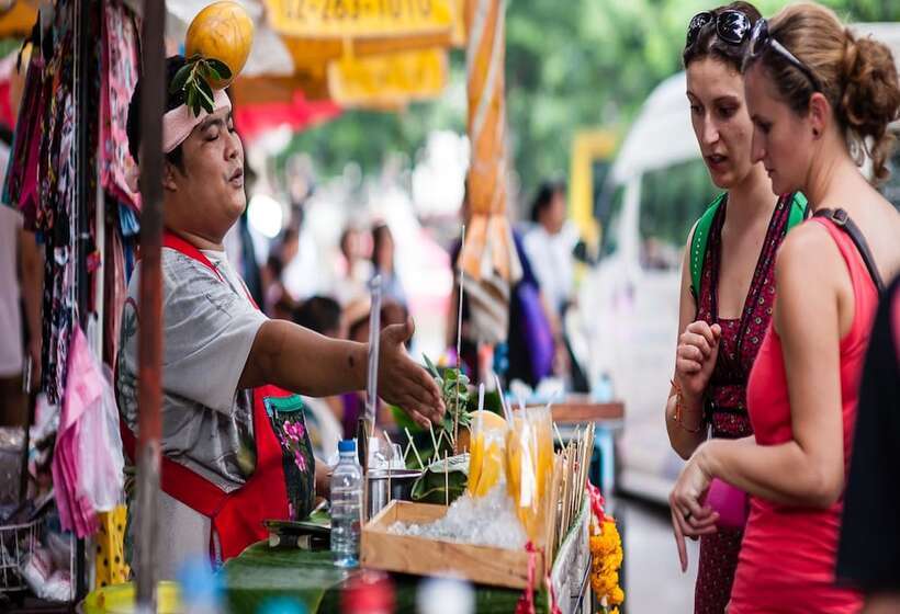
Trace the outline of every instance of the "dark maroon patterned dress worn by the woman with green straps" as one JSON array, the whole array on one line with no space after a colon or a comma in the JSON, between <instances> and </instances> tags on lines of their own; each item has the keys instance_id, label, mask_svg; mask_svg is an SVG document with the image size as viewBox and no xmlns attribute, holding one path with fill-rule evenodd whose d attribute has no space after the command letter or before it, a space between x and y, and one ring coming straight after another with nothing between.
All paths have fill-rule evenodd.
<instances>
[{"instance_id":1,"label":"dark maroon patterned dress worn by the woman with green straps","mask_svg":"<svg viewBox=\"0 0 900 614\"><path fill-rule=\"evenodd\" d=\"M746 411L746 383L760 344L772 319L775 299L775 253L787 232L790 196L781 197L769 220L740 320L719 318L719 266L728 197L710 227L700 277L697 319L722 327L719 357L707 389L706 420L713 437L739 439L753 434ZM700 538L694 611L721 614L731 595L743 531L719 530Z\"/></svg>"}]
</instances>

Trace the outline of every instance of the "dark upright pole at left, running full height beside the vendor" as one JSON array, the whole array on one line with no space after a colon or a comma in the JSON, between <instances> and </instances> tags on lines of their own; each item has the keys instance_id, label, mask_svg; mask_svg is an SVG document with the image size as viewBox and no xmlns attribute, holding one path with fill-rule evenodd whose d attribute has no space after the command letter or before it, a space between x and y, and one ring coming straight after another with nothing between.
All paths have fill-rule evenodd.
<instances>
[{"instance_id":1,"label":"dark upright pole at left, running full height beside the vendor","mask_svg":"<svg viewBox=\"0 0 900 614\"><path fill-rule=\"evenodd\" d=\"M159 458L162 421L162 113L166 109L166 4L144 0L140 91L140 337L137 433L137 606L156 612Z\"/></svg>"}]
</instances>

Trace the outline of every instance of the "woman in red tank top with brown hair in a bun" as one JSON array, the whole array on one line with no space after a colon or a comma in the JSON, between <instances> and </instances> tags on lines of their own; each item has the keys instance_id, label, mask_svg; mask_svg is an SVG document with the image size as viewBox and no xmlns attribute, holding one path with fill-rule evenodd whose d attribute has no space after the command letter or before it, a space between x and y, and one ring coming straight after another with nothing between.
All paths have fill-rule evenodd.
<instances>
[{"instance_id":1,"label":"woman in red tank top with brown hair in a bun","mask_svg":"<svg viewBox=\"0 0 900 614\"><path fill-rule=\"evenodd\" d=\"M751 494L729 614L857 612L859 594L836 584L834 564L859 372L879 272L900 270L900 216L851 144L870 139L881 179L900 114L897 68L830 10L798 4L754 26L745 87L754 160L773 192L800 190L817 213L778 251L772 325L747 388L754 436L697 448L672 492L673 527L684 565L684 536L715 519L704 499L722 479Z\"/></svg>"}]
</instances>

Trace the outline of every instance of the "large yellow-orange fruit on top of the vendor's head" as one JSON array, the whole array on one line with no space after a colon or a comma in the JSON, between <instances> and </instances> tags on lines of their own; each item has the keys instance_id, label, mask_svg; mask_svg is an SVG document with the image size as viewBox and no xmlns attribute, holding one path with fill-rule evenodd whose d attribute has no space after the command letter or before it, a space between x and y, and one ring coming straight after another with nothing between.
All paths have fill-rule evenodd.
<instances>
[{"instance_id":1,"label":"large yellow-orange fruit on top of the vendor's head","mask_svg":"<svg viewBox=\"0 0 900 614\"><path fill-rule=\"evenodd\" d=\"M225 0L200 11L188 27L184 55L217 59L230 70L227 79L210 79L214 90L227 88L241 71L254 44L254 21L244 7Z\"/></svg>"}]
</instances>

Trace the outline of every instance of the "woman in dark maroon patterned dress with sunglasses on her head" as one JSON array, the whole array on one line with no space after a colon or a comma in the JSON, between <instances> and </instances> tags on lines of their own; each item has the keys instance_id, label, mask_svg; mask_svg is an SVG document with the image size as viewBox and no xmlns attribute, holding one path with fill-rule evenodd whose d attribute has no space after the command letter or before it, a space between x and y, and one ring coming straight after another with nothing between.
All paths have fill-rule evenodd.
<instances>
[{"instance_id":1,"label":"woman in dark maroon patterned dress with sunglasses on her head","mask_svg":"<svg viewBox=\"0 0 900 614\"><path fill-rule=\"evenodd\" d=\"M690 22L684 64L694 132L717 198L699 287L691 288L688 237L682 270L678 350L666 403L672 447L685 459L711 434L753 434L746 382L772 316L774 254L786 231L791 196L776 198L762 164L751 161L753 124L741 61L760 12L734 2ZM695 229L696 229L695 225ZM702 361L699 355L712 357ZM715 518L715 516L713 516ZM721 614L731 593L742 528L696 526L700 562L695 612Z\"/></svg>"}]
</instances>

